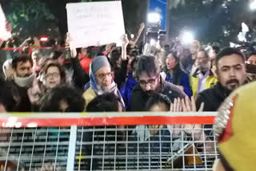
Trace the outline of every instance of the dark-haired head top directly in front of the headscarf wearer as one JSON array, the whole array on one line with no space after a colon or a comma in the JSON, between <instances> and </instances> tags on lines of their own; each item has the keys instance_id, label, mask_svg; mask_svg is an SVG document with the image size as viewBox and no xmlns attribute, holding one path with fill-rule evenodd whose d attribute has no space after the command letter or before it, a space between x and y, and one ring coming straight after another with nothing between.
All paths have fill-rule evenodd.
<instances>
[{"instance_id":1,"label":"dark-haired head top directly in front of the headscarf wearer","mask_svg":"<svg viewBox=\"0 0 256 171\"><path fill-rule=\"evenodd\" d=\"M117 112L120 99L114 93L104 93L94 98L86 107L86 112Z\"/></svg>"}]
</instances>

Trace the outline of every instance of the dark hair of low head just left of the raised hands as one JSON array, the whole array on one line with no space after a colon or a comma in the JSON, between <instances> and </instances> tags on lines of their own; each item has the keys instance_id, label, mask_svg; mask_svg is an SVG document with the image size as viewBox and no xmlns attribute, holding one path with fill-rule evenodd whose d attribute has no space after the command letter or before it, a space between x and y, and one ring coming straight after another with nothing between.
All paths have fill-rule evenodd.
<instances>
[{"instance_id":1,"label":"dark hair of low head just left of the raised hands","mask_svg":"<svg viewBox=\"0 0 256 171\"><path fill-rule=\"evenodd\" d=\"M166 95L163 95L162 93L153 93L149 100L146 101L146 111L149 111L153 105L157 105L159 103L165 104L166 108L169 109L171 101Z\"/></svg>"}]
</instances>

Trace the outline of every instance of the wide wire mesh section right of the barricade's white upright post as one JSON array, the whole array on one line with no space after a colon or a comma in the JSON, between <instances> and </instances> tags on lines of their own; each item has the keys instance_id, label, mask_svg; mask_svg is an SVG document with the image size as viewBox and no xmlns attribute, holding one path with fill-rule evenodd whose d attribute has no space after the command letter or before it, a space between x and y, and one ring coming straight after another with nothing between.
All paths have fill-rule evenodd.
<instances>
[{"instance_id":1,"label":"wide wire mesh section right of the barricade's white upright post","mask_svg":"<svg viewBox=\"0 0 256 171\"><path fill-rule=\"evenodd\" d=\"M174 125L79 127L74 170L212 170L212 135Z\"/></svg>"}]
</instances>

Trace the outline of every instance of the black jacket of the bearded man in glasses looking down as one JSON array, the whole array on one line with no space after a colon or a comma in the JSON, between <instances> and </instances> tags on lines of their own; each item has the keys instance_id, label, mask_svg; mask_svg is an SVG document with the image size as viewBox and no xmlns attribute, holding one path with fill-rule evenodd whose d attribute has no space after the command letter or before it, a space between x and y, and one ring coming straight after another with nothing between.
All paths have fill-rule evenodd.
<instances>
[{"instance_id":1,"label":"black jacket of the bearded man in glasses looking down","mask_svg":"<svg viewBox=\"0 0 256 171\"><path fill-rule=\"evenodd\" d=\"M181 89L170 82L163 81L161 78L160 88L157 93L162 93L169 97L170 101L174 101L174 98L186 97L186 94ZM130 94L130 111L145 111L146 101L148 101L150 95L145 93L140 85L136 85Z\"/></svg>"}]
</instances>

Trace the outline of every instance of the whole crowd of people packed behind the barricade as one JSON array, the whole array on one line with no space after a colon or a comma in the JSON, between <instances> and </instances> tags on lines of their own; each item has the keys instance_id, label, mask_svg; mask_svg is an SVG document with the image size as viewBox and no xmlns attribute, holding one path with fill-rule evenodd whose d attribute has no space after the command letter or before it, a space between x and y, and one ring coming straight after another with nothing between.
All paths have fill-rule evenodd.
<instances>
[{"instance_id":1,"label":"whole crowd of people packed behind the barricade","mask_svg":"<svg viewBox=\"0 0 256 171\"><path fill-rule=\"evenodd\" d=\"M255 80L247 69L256 65L256 54L218 46L205 50L198 41L190 47L146 43L138 50L125 35L121 47L111 43L69 53L69 59L58 50L42 56L35 49L6 60L0 112L217 111L230 93ZM193 129L213 125L175 126L200 140L210 133Z\"/></svg>"}]
</instances>

